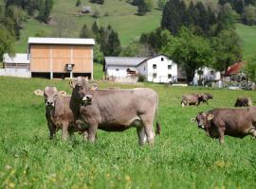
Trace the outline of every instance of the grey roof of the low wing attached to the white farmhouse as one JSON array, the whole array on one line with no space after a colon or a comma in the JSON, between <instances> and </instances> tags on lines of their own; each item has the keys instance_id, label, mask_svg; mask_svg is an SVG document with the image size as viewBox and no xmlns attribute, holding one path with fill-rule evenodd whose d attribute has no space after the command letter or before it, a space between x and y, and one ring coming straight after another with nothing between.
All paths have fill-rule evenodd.
<instances>
[{"instance_id":1,"label":"grey roof of the low wing attached to the white farmhouse","mask_svg":"<svg viewBox=\"0 0 256 189\"><path fill-rule=\"evenodd\" d=\"M147 58L131 57L105 57L105 67L108 65L136 67L141 61Z\"/></svg>"}]
</instances>

